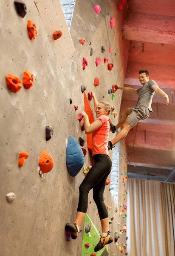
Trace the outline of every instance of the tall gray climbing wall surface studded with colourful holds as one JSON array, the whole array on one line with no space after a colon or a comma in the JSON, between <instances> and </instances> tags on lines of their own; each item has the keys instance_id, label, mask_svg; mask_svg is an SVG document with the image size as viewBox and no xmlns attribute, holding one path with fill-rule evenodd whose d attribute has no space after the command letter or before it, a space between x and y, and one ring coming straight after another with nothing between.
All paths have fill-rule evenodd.
<instances>
[{"instance_id":1,"label":"tall gray climbing wall surface studded with colourful holds","mask_svg":"<svg viewBox=\"0 0 175 256\"><path fill-rule=\"evenodd\" d=\"M56 0L52 2L55 4ZM72 52L71 58L62 67L60 56L66 54L66 51L62 48L55 50L54 41L49 38L54 31L48 33L50 26L45 26L41 14L43 9L40 13L40 6L36 6L37 1L36 5L29 0L25 3L27 14L22 18L17 15L13 1L0 2L3 11L0 15L0 256L81 256L83 233L80 233L75 241L65 239L65 224L67 221L74 221L79 198L78 188L84 178L83 169L76 177L71 177L68 173L66 140L69 135L76 140L82 137L85 140L84 148L87 149L85 132L81 131L81 123L77 120L79 112L84 110L82 84L86 87L87 94L91 90L95 91L99 102L103 100L115 105L115 111L119 113L121 92L114 93L112 100L112 94L108 94L108 90L113 84L124 84L129 42L122 40L121 24L127 5L119 11L116 1L104 3L102 0L77 0L70 29L75 52ZM95 4L101 6L100 14L94 11ZM59 1L58 5L60 6ZM47 10L47 7L45 8ZM54 12L52 16L58 24L54 30L63 31L58 40L65 40L63 47L68 42L72 47L71 41L64 37L64 29L68 29L65 27L65 20ZM113 29L110 27L112 17L115 17ZM33 20L38 28L38 35L32 41L28 37L28 20ZM86 39L83 46L79 43L80 38ZM102 46L105 48L104 53L101 51ZM111 53L108 52L109 47L112 48ZM99 56L102 62L96 67L95 60ZM83 57L88 60L85 70L82 69ZM107 70L104 57L114 64L111 71ZM29 90L22 85L19 92L13 93L6 86L6 75L13 74L23 81L25 70L34 75L34 85ZM100 81L97 87L93 85L95 77ZM75 111L74 105L78 105L78 111ZM92 101L90 106L93 109ZM117 123L118 116L114 119L111 115L110 118L113 123ZM54 130L51 140L48 141L45 140L46 125ZM110 139L112 138L113 134L110 134ZM122 158L119 161L117 212L109 191L110 185L106 187L104 194L105 203L109 206L109 217L114 215L110 224L113 237L115 231L118 230L119 233L125 223L124 214L121 215L124 204L124 143L120 143ZM37 167L43 150L53 157L54 168L42 177L37 172ZM29 154L21 168L18 166L20 152ZM112 157L112 152L110 156ZM85 167L90 164L91 156L88 153L85 156ZM127 172L127 169L125 171ZM123 176L120 172L123 172ZM9 192L16 195L11 202L6 200L6 194ZM96 228L100 229L92 192L89 200L92 203L89 204L88 215ZM121 247L122 242L125 242L124 235L118 240ZM116 248L115 243L110 244L108 249L110 255L119 255L119 247Z\"/></svg>"}]
</instances>

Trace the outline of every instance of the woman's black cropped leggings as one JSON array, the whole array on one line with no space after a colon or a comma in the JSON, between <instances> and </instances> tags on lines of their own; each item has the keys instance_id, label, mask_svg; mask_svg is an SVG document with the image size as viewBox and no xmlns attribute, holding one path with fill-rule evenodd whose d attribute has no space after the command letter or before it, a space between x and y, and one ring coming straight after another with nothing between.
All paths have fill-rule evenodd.
<instances>
[{"instance_id":1,"label":"woman's black cropped leggings","mask_svg":"<svg viewBox=\"0 0 175 256\"><path fill-rule=\"evenodd\" d=\"M108 211L104 204L104 189L106 186L107 176L110 174L112 161L105 154L95 154L93 156L94 165L79 186L79 204L78 212L87 212L88 194L93 188L93 200L99 211L100 219L108 218Z\"/></svg>"}]
</instances>

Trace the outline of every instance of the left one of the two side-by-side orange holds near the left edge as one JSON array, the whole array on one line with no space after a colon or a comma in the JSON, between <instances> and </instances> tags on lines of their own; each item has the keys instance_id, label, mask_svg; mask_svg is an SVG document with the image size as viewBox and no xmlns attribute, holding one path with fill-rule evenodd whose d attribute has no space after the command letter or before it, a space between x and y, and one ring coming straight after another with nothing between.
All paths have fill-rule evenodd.
<instances>
[{"instance_id":1,"label":"left one of the two side-by-side orange holds near the left edge","mask_svg":"<svg viewBox=\"0 0 175 256\"><path fill-rule=\"evenodd\" d=\"M22 88L21 80L17 76L14 76L14 75L11 75L11 74L6 75L6 84L7 84L7 87L13 93L19 92Z\"/></svg>"}]
</instances>

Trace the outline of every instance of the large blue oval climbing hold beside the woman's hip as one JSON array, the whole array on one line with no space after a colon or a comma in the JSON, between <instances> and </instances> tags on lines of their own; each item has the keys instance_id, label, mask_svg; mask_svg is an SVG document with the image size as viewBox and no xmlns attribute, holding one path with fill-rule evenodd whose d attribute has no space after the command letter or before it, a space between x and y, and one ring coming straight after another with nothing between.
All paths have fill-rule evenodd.
<instances>
[{"instance_id":1,"label":"large blue oval climbing hold beside the woman's hip","mask_svg":"<svg viewBox=\"0 0 175 256\"><path fill-rule=\"evenodd\" d=\"M71 135L66 148L66 166L71 176L76 176L84 165L85 159L78 141Z\"/></svg>"}]
</instances>

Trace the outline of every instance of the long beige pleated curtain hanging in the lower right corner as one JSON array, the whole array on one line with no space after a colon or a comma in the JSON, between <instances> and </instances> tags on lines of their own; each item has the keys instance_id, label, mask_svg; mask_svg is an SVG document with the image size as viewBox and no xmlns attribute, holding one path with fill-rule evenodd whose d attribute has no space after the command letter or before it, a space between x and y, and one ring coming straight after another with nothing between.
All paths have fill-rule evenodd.
<instances>
[{"instance_id":1,"label":"long beige pleated curtain hanging in the lower right corner","mask_svg":"<svg viewBox=\"0 0 175 256\"><path fill-rule=\"evenodd\" d=\"M175 256L175 184L128 179L129 256Z\"/></svg>"}]
</instances>

